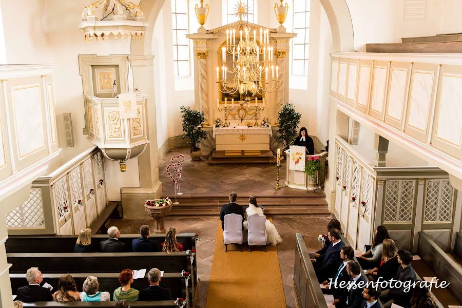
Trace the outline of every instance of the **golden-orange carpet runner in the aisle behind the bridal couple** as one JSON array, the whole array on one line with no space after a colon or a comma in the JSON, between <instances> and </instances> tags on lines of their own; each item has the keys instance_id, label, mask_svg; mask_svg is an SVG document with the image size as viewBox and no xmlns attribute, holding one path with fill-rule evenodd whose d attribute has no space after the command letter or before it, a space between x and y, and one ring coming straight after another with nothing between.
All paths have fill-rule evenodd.
<instances>
[{"instance_id":1,"label":"golden-orange carpet runner in the aisle behind the bridal couple","mask_svg":"<svg viewBox=\"0 0 462 308\"><path fill-rule=\"evenodd\" d=\"M253 248L228 245L225 252L221 221L215 241L207 308L285 308L277 246Z\"/></svg>"}]
</instances>

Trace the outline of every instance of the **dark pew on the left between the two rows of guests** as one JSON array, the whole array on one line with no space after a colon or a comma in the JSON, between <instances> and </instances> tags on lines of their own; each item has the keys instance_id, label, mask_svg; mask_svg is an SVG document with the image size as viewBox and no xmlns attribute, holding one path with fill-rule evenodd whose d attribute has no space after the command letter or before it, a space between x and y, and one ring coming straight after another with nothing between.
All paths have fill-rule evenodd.
<instances>
[{"instance_id":1,"label":"dark pew on the left between the two rows of guests","mask_svg":"<svg viewBox=\"0 0 462 308\"><path fill-rule=\"evenodd\" d=\"M186 252L167 253L91 253L91 254L7 254L10 273L24 274L31 266L42 273L114 273L125 268L158 267L165 273L192 272Z\"/></svg>"}]
</instances>

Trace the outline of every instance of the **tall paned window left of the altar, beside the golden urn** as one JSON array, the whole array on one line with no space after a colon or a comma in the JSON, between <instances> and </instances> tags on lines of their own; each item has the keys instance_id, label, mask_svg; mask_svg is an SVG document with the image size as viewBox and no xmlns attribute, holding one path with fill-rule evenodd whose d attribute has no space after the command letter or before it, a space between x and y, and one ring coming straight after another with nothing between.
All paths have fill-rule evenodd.
<instances>
[{"instance_id":1,"label":"tall paned window left of the altar, beside the golden urn","mask_svg":"<svg viewBox=\"0 0 462 308\"><path fill-rule=\"evenodd\" d=\"M191 75L189 58L188 0L171 0L174 76Z\"/></svg>"}]
</instances>

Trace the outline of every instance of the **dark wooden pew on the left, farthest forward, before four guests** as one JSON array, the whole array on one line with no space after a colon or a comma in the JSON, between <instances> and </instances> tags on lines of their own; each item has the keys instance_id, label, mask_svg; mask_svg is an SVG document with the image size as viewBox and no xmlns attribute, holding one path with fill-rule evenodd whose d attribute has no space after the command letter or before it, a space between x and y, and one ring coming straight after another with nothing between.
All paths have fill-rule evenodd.
<instances>
[{"instance_id":1,"label":"dark wooden pew on the left, farthest forward, before four guests","mask_svg":"<svg viewBox=\"0 0 462 308\"><path fill-rule=\"evenodd\" d=\"M140 238L139 234L122 234L119 240L131 251L131 241L137 238ZM161 243L165 241L165 234L151 235L150 238L157 241L160 249ZM92 244L98 248L100 242L107 239L105 234L91 236ZM8 237L5 248L7 253L73 253L76 240L75 235L15 235ZM185 250L196 249L196 237L193 233L179 233L177 240Z\"/></svg>"}]
</instances>

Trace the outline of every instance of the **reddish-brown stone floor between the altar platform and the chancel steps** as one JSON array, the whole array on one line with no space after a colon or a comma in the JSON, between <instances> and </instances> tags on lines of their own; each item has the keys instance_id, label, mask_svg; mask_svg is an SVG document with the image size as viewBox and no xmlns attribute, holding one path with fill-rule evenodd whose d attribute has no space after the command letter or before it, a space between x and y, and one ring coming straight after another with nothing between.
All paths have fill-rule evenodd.
<instances>
[{"instance_id":1,"label":"reddish-brown stone floor between the altar platform and the chancel steps","mask_svg":"<svg viewBox=\"0 0 462 308\"><path fill-rule=\"evenodd\" d=\"M170 164L174 155L182 154L185 162L181 170L180 190L187 194L201 196L229 194L236 191L238 194L278 195L282 190L275 190L276 167L271 164L227 164L209 165L205 158L201 161L192 161L188 148L173 148L159 163L159 179L162 182L164 195L174 195L174 187L165 168ZM285 160L281 160L279 170L279 185L285 187ZM285 187L284 195L300 194L299 189Z\"/></svg>"}]
</instances>

